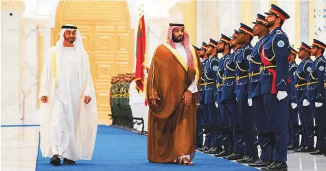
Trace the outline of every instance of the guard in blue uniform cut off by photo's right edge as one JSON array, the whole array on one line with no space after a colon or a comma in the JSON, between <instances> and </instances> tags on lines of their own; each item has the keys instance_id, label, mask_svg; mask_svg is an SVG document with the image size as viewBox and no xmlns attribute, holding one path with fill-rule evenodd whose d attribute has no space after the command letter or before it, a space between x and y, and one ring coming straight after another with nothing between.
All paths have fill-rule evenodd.
<instances>
[{"instance_id":1,"label":"guard in blue uniform cut off by photo's right edge","mask_svg":"<svg viewBox=\"0 0 326 171\"><path fill-rule=\"evenodd\" d=\"M324 88L324 77L326 77L326 58L323 56L326 45L314 39L312 44L312 55L316 57L316 60L312 62L312 70L310 71L310 77L308 80L308 101L314 108L313 116L315 117L317 143L316 150L311 152L312 155L325 155L326 154L326 95Z\"/></svg>"}]
</instances>

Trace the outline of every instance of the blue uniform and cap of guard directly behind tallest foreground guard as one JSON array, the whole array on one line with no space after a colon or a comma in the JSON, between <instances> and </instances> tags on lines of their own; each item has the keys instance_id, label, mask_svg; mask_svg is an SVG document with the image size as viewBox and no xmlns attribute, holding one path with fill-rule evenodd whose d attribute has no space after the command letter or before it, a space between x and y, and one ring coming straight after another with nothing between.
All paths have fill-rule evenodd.
<instances>
[{"instance_id":1,"label":"blue uniform and cap of guard directly behind tallest foreground guard","mask_svg":"<svg viewBox=\"0 0 326 171\"><path fill-rule=\"evenodd\" d=\"M265 16L257 14L257 19L253 24L264 25ZM263 97L260 92L260 65L261 65L261 48L262 43L266 41L266 36L259 38L258 42L253 47L253 52L249 57L249 68L248 68L248 98L252 98L253 103L253 114L256 118L256 128L259 131L258 142L260 146L263 146L268 142L268 137L264 136L264 133L271 131L270 120L268 119L268 114L266 108L264 107ZM271 153L271 148L268 147L261 150L260 159L268 161Z\"/></svg>"}]
</instances>

